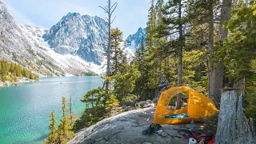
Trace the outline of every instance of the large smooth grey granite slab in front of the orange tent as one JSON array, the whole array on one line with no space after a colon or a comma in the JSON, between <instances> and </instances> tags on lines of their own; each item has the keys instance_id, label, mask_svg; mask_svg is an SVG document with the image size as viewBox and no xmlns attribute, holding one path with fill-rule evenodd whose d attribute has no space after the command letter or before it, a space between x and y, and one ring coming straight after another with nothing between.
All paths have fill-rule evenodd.
<instances>
[{"instance_id":1,"label":"large smooth grey granite slab in front of the orange tent","mask_svg":"<svg viewBox=\"0 0 256 144\"><path fill-rule=\"evenodd\" d=\"M162 126L162 130L168 133L166 137L161 137L158 134L142 135L142 130L150 126L153 118L154 108L131 110L111 118L106 118L93 126L80 130L77 136L70 140L68 144L188 143L178 135L176 131L178 126Z\"/></svg>"}]
</instances>

